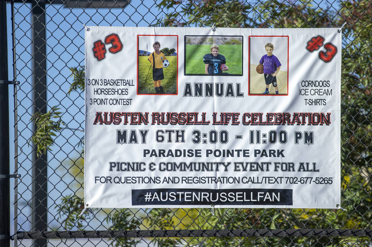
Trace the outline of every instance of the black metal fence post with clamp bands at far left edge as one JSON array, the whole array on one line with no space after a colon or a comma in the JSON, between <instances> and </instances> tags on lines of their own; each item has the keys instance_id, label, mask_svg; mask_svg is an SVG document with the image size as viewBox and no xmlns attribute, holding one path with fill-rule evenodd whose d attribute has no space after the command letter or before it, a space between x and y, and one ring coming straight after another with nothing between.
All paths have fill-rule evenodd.
<instances>
[{"instance_id":1,"label":"black metal fence post with clamp bands at far left edge","mask_svg":"<svg viewBox=\"0 0 372 247\"><path fill-rule=\"evenodd\" d=\"M0 1L0 80L8 80L6 1ZM0 84L0 175L9 175L9 96L7 84ZM10 246L9 178L0 177L0 247Z\"/></svg>"}]
</instances>

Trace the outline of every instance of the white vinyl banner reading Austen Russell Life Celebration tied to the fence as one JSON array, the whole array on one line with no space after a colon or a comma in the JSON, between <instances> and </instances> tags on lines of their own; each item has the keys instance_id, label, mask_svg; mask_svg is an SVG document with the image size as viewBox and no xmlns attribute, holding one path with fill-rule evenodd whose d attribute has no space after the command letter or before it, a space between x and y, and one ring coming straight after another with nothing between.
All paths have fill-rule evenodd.
<instances>
[{"instance_id":1,"label":"white vinyl banner reading Austen Russell Life Celebration tied to the fence","mask_svg":"<svg viewBox=\"0 0 372 247\"><path fill-rule=\"evenodd\" d=\"M87 207L336 208L337 28L85 31Z\"/></svg>"}]
</instances>

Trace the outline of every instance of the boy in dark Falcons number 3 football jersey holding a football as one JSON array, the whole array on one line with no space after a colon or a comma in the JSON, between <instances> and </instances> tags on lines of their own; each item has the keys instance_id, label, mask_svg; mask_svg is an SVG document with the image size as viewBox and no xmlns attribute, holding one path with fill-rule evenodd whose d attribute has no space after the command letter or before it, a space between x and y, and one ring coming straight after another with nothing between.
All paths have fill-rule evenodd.
<instances>
[{"instance_id":1,"label":"boy in dark Falcons number 3 football jersey holding a football","mask_svg":"<svg viewBox=\"0 0 372 247\"><path fill-rule=\"evenodd\" d=\"M219 54L219 47L217 44L212 44L211 53L203 56L203 62L205 63L205 74L222 75L223 71L228 71L229 69L225 65L225 56Z\"/></svg>"}]
</instances>

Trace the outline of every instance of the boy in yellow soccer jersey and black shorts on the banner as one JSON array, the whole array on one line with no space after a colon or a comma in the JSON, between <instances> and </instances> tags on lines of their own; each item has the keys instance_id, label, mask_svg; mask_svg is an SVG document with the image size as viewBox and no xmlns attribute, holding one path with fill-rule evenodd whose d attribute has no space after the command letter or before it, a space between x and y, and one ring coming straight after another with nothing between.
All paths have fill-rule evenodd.
<instances>
[{"instance_id":1,"label":"boy in yellow soccer jersey and black shorts on the banner","mask_svg":"<svg viewBox=\"0 0 372 247\"><path fill-rule=\"evenodd\" d=\"M148 61L153 67L153 81L156 93L164 93L161 86L161 80L164 79L163 74L163 60L168 60L165 55L160 51L160 43L155 41L153 44L154 51L148 56Z\"/></svg>"}]
</instances>

